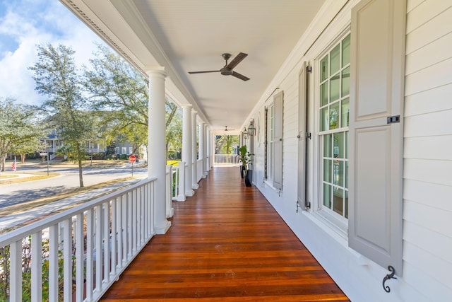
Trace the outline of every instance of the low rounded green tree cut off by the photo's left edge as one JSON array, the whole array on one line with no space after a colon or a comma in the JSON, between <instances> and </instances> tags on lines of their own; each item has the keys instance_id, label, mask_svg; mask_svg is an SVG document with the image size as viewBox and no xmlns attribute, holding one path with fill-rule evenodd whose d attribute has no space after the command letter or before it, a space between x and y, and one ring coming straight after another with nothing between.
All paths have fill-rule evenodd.
<instances>
[{"instance_id":1,"label":"low rounded green tree cut off by the photo's left edge","mask_svg":"<svg viewBox=\"0 0 452 302\"><path fill-rule=\"evenodd\" d=\"M0 99L0 163L5 170L8 153L25 154L39 151L43 129L30 106L16 103L13 98Z\"/></svg>"}]
</instances>

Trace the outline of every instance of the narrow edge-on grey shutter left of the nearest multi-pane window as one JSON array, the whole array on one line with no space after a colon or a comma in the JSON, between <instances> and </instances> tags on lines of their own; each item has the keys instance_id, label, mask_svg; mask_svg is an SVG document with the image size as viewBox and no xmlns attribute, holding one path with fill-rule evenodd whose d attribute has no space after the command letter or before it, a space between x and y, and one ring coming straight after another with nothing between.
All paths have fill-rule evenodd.
<instances>
[{"instance_id":1,"label":"narrow edge-on grey shutter left of the nearest multi-pane window","mask_svg":"<svg viewBox=\"0 0 452 302\"><path fill-rule=\"evenodd\" d=\"M307 206L306 201L306 99L307 99L306 62L298 76L298 204L302 209Z\"/></svg>"}]
</instances>

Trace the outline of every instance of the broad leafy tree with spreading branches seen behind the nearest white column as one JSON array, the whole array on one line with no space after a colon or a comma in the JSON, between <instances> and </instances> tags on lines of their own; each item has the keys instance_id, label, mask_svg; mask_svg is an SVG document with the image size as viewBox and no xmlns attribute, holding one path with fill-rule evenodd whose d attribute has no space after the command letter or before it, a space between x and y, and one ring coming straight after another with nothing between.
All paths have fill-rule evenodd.
<instances>
[{"instance_id":1,"label":"broad leafy tree with spreading branches seen behind the nearest white column","mask_svg":"<svg viewBox=\"0 0 452 302\"><path fill-rule=\"evenodd\" d=\"M93 109L102 112L102 136L107 141L129 141L134 149L146 146L148 79L107 47L97 47L95 59L90 60L91 69L85 67L83 84L93 99ZM168 98L165 108L168 151L169 146L177 148L180 145L182 117L179 108Z\"/></svg>"}]
</instances>

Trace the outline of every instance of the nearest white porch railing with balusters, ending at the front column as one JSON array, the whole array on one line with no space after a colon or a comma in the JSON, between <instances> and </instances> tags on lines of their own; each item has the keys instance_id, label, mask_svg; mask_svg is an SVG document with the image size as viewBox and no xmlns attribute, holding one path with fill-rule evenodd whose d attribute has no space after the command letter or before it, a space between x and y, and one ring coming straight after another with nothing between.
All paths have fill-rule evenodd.
<instances>
[{"instance_id":1,"label":"nearest white porch railing with balusters, ending at the front column","mask_svg":"<svg viewBox=\"0 0 452 302\"><path fill-rule=\"evenodd\" d=\"M1 235L1 298L98 301L155 233L154 185L141 180Z\"/></svg>"}]
</instances>

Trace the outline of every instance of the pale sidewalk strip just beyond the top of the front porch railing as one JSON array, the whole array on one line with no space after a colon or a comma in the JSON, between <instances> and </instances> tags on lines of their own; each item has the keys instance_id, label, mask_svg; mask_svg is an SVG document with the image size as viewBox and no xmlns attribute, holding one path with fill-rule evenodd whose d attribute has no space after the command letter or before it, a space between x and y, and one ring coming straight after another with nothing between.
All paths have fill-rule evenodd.
<instances>
[{"instance_id":1,"label":"pale sidewalk strip just beyond the top of the front porch railing","mask_svg":"<svg viewBox=\"0 0 452 302\"><path fill-rule=\"evenodd\" d=\"M49 204L45 204L40 207L35 207L33 209L28 209L26 211L22 211L17 214L10 214L0 218L0 230L5 228L12 228L13 226L22 225L30 220L37 219L42 216L48 216L49 214L54 213L55 211L64 209L64 207L68 207L71 204L78 204L84 202L88 199L94 199L95 197L100 197L102 195L108 194L114 190L117 190L121 187L131 185L134 182L138 182L139 179L127 180L125 182L119 182L114 185L108 185L105 187L101 187L99 189L91 190L89 192L84 192L78 195L74 195L71 197L67 197L61 199L57 202L51 202Z\"/></svg>"}]
</instances>

